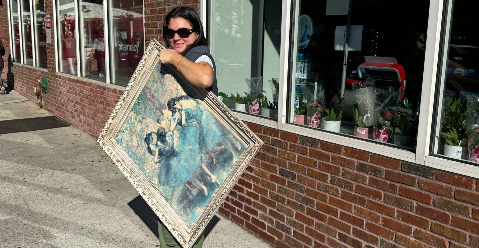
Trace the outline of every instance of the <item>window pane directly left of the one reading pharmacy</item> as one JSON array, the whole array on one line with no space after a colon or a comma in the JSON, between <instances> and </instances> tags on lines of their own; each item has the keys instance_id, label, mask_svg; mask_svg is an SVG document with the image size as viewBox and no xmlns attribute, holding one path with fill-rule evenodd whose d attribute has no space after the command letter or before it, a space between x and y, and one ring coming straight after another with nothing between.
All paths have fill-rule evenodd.
<instances>
[{"instance_id":1,"label":"window pane directly left of the one reading pharmacy","mask_svg":"<svg viewBox=\"0 0 479 248\"><path fill-rule=\"evenodd\" d=\"M81 75L106 82L103 0L82 0L80 14Z\"/></svg>"}]
</instances>

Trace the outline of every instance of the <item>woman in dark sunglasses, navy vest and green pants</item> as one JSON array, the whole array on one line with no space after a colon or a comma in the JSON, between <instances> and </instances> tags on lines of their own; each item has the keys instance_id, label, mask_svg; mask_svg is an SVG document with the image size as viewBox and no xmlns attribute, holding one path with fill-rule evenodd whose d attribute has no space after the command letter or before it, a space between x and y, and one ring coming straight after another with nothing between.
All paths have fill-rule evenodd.
<instances>
[{"instance_id":1,"label":"woman in dark sunglasses, navy vest and green pants","mask_svg":"<svg viewBox=\"0 0 479 248\"><path fill-rule=\"evenodd\" d=\"M163 24L163 41L168 49L160 52L162 64L173 65L188 83L207 88L218 95L215 61L207 47L203 24L198 13L189 7L170 11ZM168 229L158 222L160 247L181 248ZM198 237L193 248L203 247L205 232Z\"/></svg>"}]
</instances>

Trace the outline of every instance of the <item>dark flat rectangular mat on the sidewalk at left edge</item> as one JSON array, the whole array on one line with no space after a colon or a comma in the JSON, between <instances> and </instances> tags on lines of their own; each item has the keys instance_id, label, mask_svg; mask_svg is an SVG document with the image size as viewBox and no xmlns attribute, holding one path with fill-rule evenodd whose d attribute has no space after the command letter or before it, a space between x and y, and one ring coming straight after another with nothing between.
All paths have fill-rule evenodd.
<instances>
[{"instance_id":1,"label":"dark flat rectangular mat on the sidewalk at left edge","mask_svg":"<svg viewBox=\"0 0 479 248\"><path fill-rule=\"evenodd\" d=\"M70 125L56 116L0 121L0 134L36 131L69 127Z\"/></svg>"}]
</instances>

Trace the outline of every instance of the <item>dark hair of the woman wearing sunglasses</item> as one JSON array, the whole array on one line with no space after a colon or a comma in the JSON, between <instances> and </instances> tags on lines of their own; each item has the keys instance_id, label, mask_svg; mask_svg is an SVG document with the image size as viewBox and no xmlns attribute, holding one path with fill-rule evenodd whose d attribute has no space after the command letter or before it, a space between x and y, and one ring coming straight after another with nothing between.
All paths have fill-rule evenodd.
<instances>
[{"instance_id":1,"label":"dark hair of the woman wearing sunglasses","mask_svg":"<svg viewBox=\"0 0 479 248\"><path fill-rule=\"evenodd\" d=\"M205 37L205 32L203 31L203 24L201 23L198 13L190 7L176 7L168 15L166 15L165 22L163 22L163 31L168 28L170 25L171 18L184 18L190 23L195 33L198 34L198 39L191 45L188 45L182 55L186 54L190 49L195 46L208 45L208 40ZM163 34L163 41L165 42L166 47L170 48L171 44L168 41L168 38Z\"/></svg>"}]
</instances>

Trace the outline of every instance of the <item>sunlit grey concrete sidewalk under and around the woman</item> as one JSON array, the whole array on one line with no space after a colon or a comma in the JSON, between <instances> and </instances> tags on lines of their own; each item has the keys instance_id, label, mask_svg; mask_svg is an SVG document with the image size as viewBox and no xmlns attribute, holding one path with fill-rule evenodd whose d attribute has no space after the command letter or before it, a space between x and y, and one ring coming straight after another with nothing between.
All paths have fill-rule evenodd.
<instances>
[{"instance_id":1,"label":"sunlit grey concrete sidewalk under and around the woman","mask_svg":"<svg viewBox=\"0 0 479 248\"><path fill-rule=\"evenodd\" d=\"M3 120L51 116L12 91ZM0 247L160 247L153 212L91 136L64 127L0 135ZM204 248L270 244L223 216Z\"/></svg>"}]
</instances>

